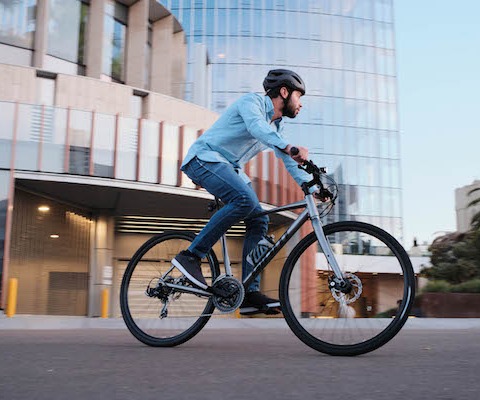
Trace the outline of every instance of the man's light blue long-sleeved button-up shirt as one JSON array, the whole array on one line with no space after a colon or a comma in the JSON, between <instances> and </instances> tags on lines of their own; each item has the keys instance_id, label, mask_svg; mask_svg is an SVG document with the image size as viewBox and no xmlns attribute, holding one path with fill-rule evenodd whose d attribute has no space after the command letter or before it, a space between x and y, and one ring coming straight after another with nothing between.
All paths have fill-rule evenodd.
<instances>
[{"instance_id":1,"label":"man's light blue long-sleeved button-up shirt","mask_svg":"<svg viewBox=\"0 0 480 400\"><path fill-rule=\"evenodd\" d=\"M250 182L243 166L259 152L271 148L283 160L288 172L301 185L311 180L309 174L281 151L288 142L283 137L283 121L270 123L274 114L270 97L249 93L240 97L190 147L182 169L195 156L207 162L233 165L245 182Z\"/></svg>"}]
</instances>

